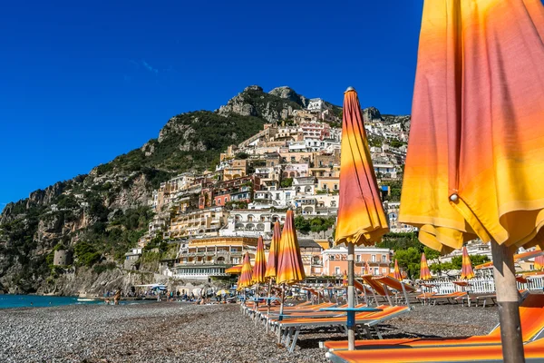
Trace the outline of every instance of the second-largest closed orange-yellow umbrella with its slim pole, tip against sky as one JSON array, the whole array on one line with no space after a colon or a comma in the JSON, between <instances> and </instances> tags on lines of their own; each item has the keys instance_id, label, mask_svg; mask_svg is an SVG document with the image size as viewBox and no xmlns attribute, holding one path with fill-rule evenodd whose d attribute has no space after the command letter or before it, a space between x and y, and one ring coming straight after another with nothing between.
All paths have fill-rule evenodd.
<instances>
[{"instance_id":1,"label":"second-largest closed orange-yellow umbrella with its slim pole, tip against sky","mask_svg":"<svg viewBox=\"0 0 544 363\"><path fill-rule=\"evenodd\" d=\"M339 197L335 243L347 246L347 303L354 308L355 245L374 245L389 228L366 141L361 104L352 87L344 93ZM347 313L347 338L348 348L353 350L353 311Z\"/></svg>"}]
</instances>

